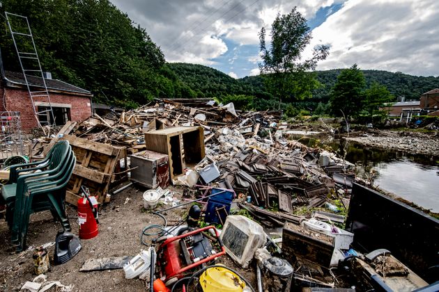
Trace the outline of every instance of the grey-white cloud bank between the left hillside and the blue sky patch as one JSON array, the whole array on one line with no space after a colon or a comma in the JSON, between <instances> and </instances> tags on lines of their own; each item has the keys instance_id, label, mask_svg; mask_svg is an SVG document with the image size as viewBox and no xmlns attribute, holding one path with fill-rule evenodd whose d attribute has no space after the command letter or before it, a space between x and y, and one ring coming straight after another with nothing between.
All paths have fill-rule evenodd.
<instances>
[{"instance_id":1,"label":"grey-white cloud bank between the left hillside and the blue sky patch","mask_svg":"<svg viewBox=\"0 0 439 292\"><path fill-rule=\"evenodd\" d=\"M331 5L334 0L231 0L222 4L213 0L185 0L184 4L152 0L111 2L146 29L167 60L192 60L206 65L226 52L225 44L214 42L215 39L259 45L261 27L266 26L269 35L278 12L288 13L298 6L310 18L318 8Z\"/></svg>"}]
</instances>

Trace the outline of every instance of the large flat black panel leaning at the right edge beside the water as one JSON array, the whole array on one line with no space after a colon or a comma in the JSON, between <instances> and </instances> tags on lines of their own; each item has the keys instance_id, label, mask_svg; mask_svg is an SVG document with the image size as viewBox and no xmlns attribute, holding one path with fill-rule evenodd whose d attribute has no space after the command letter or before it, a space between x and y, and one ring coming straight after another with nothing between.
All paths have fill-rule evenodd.
<instances>
[{"instance_id":1,"label":"large flat black panel leaning at the right edge beside the water","mask_svg":"<svg viewBox=\"0 0 439 292\"><path fill-rule=\"evenodd\" d=\"M360 252L386 248L427 282L439 281L438 219L354 183L346 230Z\"/></svg>"}]
</instances>

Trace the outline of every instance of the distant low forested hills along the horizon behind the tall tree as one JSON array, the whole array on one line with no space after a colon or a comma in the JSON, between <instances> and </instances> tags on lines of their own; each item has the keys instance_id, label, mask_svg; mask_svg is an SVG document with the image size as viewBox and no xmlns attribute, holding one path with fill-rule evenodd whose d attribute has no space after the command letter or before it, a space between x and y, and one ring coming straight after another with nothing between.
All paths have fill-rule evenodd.
<instances>
[{"instance_id":1,"label":"distant low forested hills along the horizon behind the tall tree","mask_svg":"<svg viewBox=\"0 0 439 292\"><path fill-rule=\"evenodd\" d=\"M221 97L224 95L252 95L257 99L269 99L270 94L265 91L261 76L246 76L242 79L233 79L230 76L203 65L188 63L168 63L171 69L185 86L197 91L200 97ZM304 102L303 107L314 107L318 102L327 103L330 89L337 81L341 69L317 71L316 77L321 88L314 90L313 96ZM369 86L378 81L396 97L405 97L406 100L419 99L422 93L433 88L439 88L439 77L413 76L401 72L387 72L380 70L362 70ZM295 103L297 104L297 103Z\"/></svg>"}]
</instances>

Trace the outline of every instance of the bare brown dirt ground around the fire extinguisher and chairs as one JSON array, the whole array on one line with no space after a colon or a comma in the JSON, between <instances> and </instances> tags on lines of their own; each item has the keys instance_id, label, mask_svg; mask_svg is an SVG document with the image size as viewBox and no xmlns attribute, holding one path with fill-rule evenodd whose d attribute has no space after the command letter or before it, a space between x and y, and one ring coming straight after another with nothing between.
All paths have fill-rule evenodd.
<instances>
[{"instance_id":1,"label":"bare brown dirt ground around the fire extinguisher and chairs","mask_svg":"<svg viewBox=\"0 0 439 292\"><path fill-rule=\"evenodd\" d=\"M79 268L87 259L134 256L142 249L148 248L140 241L141 231L147 225L162 224L162 220L144 210L141 197L143 192L142 188L131 187L114 195L111 202L100 210L98 236L82 240L82 250L67 263L60 266L52 265L52 270L45 274L47 280L60 281L63 285L72 284L72 291L147 291L148 284L146 282L139 278L125 279L125 273L122 269L79 272ZM176 197L178 197L178 193L176 193ZM67 208L72 232L78 234L76 209L70 206ZM169 211L166 216L167 220L170 221L169 225L174 224L171 221L179 220L184 216L186 210L180 208ZM20 291L26 281L32 281L36 277L33 275L33 248L54 242L56 232L59 229L61 229L61 224L54 222L49 211L33 214L27 237L28 249L15 253L13 246L10 245L8 226L3 218L0 219L0 291ZM151 240L148 238L147 242L151 242ZM54 246L48 250L50 256L53 257ZM254 268L244 270L236 266L226 255L220 257L217 262L237 270L255 286Z\"/></svg>"}]
</instances>

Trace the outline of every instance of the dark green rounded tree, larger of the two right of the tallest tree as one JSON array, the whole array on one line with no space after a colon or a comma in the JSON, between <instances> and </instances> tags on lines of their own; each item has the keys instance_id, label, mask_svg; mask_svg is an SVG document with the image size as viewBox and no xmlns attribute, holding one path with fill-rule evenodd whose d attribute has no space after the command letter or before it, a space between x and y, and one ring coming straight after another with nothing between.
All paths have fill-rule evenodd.
<instances>
[{"instance_id":1,"label":"dark green rounded tree, larger of the two right of the tallest tree","mask_svg":"<svg viewBox=\"0 0 439 292\"><path fill-rule=\"evenodd\" d=\"M364 86L366 81L357 64L341 70L330 92L332 114L337 117L345 116L348 119L360 113Z\"/></svg>"}]
</instances>

